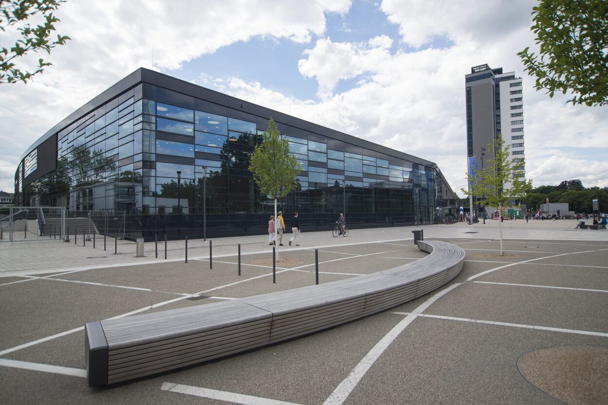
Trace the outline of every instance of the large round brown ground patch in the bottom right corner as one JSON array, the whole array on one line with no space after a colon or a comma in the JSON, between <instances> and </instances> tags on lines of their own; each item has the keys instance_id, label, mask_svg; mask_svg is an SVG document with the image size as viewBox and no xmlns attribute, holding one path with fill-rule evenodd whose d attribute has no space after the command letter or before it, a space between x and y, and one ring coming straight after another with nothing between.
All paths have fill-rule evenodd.
<instances>
[{"instance_id":1,"label":"large round brown ground patch in the bottom right corner","mask_svg":"<svg viewBox=\"0 0 608 405\"><path fill-rule=\"evenodd\" d=\"M608 348L547 347L523 354L520 373L530 383L570 405L608 403Z\"/></svg>"}]
</instances>

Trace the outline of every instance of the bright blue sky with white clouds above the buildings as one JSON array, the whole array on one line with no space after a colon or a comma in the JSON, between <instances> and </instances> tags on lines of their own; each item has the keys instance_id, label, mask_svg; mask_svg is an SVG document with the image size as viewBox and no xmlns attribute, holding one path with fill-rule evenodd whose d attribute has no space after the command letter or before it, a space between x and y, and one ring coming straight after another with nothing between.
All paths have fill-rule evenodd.
<instances>
[{"instance_id":1,"label":"bright blue sky with white clouds above the buildings","mask_svg":"<svg viewBox=\"0 0 608 405\"><path fill-rule=\"evenodd\" d=\"M0 188L37 138L147 67L436 162L466 185L465 75L523 78L527 176L608 186L608 107L533 89L532 0L68 0L71 36L34 81L0 85ZM0 45L14 35L0 33ZM36 57L40 57L35 55ZM459 192L461 195L461 193Z\"/></svg>"}]
</instances>

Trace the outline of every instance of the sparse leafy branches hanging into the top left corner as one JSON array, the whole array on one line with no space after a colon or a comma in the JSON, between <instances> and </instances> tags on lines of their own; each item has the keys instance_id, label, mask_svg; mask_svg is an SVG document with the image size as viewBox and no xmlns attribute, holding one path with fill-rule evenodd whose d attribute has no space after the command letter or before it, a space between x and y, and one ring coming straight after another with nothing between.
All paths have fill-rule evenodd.
<instances>
[{"instance_id":1,"label":"sparse leafy branches hanging into the top left corner","mask_svg":"<svg viewBox=\"0 0 608 405\"><path fill-rule=\"evenodd\" d=\"M19 33L21 38L15 42L15 45L6 49L0 48L0 84L15 83L16 81L27 81L44 70L44 67L51 63L45 62L42 58L38 60L38 66L33 72L27 72L16 66L15 61L21 56L26 55L30 51L38 52L46 50L50 54L50 49L57 45L63 45L69 36L57 35L57 39L50 39L51 33L55 30L53 24L59 19L53 15L53 12L58 9L61 3L65 0L2 0L0 1L0 30L5 32L7 28L13 27ZM30 27L30 24L22 24L30 17L40 13L43 18L43 24ZM21 24L21 25L19 25Z\"/></svg>"}]
</instances>

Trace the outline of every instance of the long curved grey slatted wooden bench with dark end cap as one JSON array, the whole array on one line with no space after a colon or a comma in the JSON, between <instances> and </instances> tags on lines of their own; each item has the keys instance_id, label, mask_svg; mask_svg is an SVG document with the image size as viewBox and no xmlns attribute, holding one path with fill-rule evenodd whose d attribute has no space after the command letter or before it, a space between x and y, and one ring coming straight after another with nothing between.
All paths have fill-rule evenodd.
<instances>
[{"instance_id":1,"label":"long curved grey slatted wooden bench with dark end cap","mask_svg":"<svg viewBox=\"0 0 608 405\"><path fill-rule=\"evenodd\" d=\"M85 326L89 386L179 369L344 324L423 296L460 273L462 248L423 240L418 248L429 256L364 276L90 322Z\"/></svg>"}]
</instances>

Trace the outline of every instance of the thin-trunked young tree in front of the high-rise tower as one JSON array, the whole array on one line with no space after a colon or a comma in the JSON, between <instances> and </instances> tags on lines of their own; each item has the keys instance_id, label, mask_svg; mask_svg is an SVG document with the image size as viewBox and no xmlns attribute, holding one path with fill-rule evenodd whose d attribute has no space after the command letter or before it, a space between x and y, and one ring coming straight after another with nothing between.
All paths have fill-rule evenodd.
<instances>
[{"instance_id":1,"label":"thin-trunked young tree in front of the high-rise tower","mask_svg":"<svg viewBox=\"0 0 608 405\"><path fill-rule=\"evenodd\" d=\"M505 144L502 135L499 134L494 145L488 145L491 158L488 165L481 171L473 167L473 174L469 175L471 189L461 188L467 196L480 196L478 203L483 205L497 206L500 215L503 214L503 206L507 206L516 199L521 200L525 193L532 189L531 180L520 180L525 166L525 161L511 160L510 146ZM500 256L504 256L502 248L502 221L499 220L498 228L500 234Z\"/></svg>"}]
</instances>

